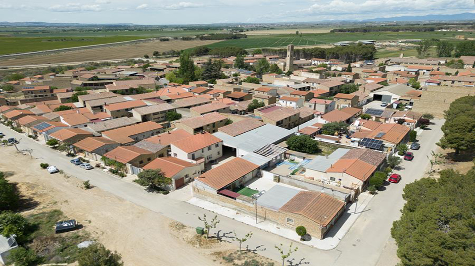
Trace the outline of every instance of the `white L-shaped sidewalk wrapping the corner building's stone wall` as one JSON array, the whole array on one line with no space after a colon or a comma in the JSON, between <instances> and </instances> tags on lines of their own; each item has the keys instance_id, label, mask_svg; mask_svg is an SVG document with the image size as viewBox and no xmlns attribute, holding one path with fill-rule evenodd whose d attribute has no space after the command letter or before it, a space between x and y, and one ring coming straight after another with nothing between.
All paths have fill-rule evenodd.
<instances>
[{"instance_id":1,"label":"white L-shaped sidewalk wrapping the corner building's stone wall","mask_svg":"<svg viewBox=\"0 0 475 266\"><path fill-rule=\"evenodd\" d=\"M187 200L186 202L215 212L216 214L234 219L241 223L259 228L266 232L270 232L278 236L299 242L300 244L308 245L321 250L331 250L338 246L340 240L342 240L348 230L350 230L351 226L360 216L360 214L364 211L371 198L373 198L373 196L368 193L360 194L357 203L358 206L356 206L356 203L350 204L349 207L346 208L345 212L340 217L338 222L333 228L330 229L330 231L326 234L326 237L323 240L312 238L312 240L305 242L300 241L300 237L297 235L297 233L295 233L295 230L293 229L281 227L280 225L269 221L264 221L256 224L255 217L241 214L240 212L236 212L235 209L227 208L196 197L193 197ZM355 213L356 207L358 207L358 209Z\"/></svg>"}]
</instances>

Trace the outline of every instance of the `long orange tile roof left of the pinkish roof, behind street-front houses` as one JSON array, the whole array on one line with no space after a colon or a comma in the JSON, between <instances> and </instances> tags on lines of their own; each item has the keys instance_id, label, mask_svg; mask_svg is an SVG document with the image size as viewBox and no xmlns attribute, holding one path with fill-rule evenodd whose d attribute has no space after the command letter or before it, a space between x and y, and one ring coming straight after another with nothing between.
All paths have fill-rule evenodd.
<instances>
[{"instance_id":1,"label":"long orange tile roof left of the pinkish roof, behind street-front houses","mask_svg":"<svg viewBox=\"0 0 475 266\"><path fill-rule=\"evenodd\" d=\"M147 121L135 125L130 125L122 128L116 128L102 132L104 137L115 140L121 144L127 144L134 140L130 138L132 135L145 133L153 130L161 130L163 127L153 121Z\"/></svg>"}]
</instances>

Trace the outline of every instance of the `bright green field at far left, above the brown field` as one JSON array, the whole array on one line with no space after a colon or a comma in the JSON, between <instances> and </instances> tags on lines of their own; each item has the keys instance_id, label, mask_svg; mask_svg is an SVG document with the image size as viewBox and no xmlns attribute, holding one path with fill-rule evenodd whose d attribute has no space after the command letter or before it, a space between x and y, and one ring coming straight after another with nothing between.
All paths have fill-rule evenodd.
<instances>
[{"instance_id":1,"label":"bright green field at far left, above the brown field","mask_svg":"<svg viewBox=\"0 0 475 266\"><path fill-rule=\"evenodd\" d=\"M0 37L0 55L145 39L138 36L25 38ZM150 37L149 37L150 38Z\"/></svg>"}]
</instances>

